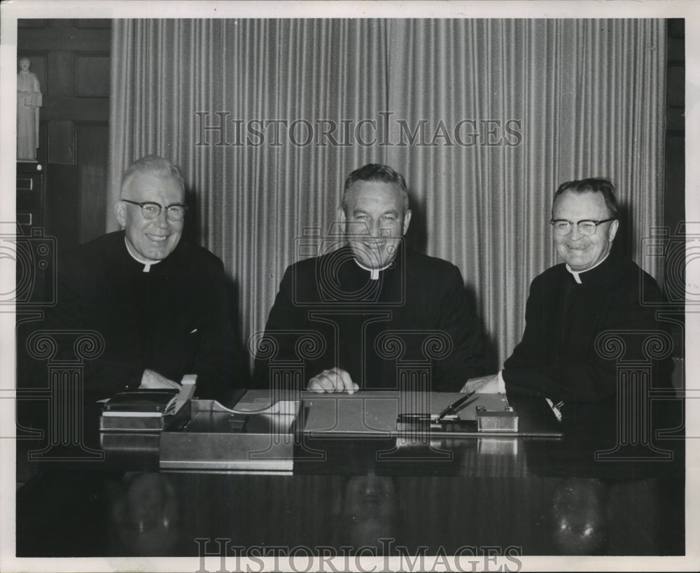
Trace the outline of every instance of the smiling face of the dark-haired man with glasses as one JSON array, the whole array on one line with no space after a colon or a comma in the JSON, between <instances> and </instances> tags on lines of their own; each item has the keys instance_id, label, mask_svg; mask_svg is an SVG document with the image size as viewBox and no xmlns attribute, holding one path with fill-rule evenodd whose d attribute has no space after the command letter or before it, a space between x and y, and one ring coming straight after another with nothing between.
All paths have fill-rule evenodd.
<instances>
[{"instance_id":1,"label":"smiling face of the dark-haired man with glasses","mask_svg":"<svg viewBox=\"0 0 700 573\"><path fill-rule=\"evenodd\" d=\"M568 219L574 223L581 220L600 221L610 218L603 194L599 192L574 193L565 191L554 201L552 219ZM612 248L619 221L601 223L595 234L582 235L577 225L566 235L554 233L554 246L574 271L587 271L601 262Z\"/></svg>"}]
</instances>

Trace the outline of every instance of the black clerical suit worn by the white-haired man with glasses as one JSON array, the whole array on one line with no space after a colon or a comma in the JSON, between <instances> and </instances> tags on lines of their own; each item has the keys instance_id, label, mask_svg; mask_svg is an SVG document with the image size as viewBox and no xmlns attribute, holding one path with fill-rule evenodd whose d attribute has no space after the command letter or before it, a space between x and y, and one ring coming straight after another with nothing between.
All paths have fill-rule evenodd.
<instances>
[{"instance_id":1,"label":"black clerical suit worn by the white-haired man with glasses","mask_svg":"<svg viewBox=\"0 0 700 573\"><path fill-rule=\"evenodd\" d=\"M149 267L130 255L121 231L63 253L57 264L48 323L104 337L102 355L85 361L86 394L134 390L152 369L177 382L197 374L197 395L227 399L241 366L218 257L181 240Z\"/></svg>"}]
</instances>

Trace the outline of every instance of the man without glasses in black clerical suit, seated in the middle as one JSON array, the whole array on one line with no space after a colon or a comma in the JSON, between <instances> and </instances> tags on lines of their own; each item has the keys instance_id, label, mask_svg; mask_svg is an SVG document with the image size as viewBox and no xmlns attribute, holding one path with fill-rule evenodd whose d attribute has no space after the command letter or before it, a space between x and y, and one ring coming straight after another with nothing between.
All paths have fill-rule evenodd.
<instances>
[{"instance_id":1,"label":"man without glasses in black clerical suit, seated in the middle","mask_svg":"<svg viewBox=\"0 0 700 573\"><path fill-rule=\"evenodd\" d=\"M402 176L386 165L360 167L338 210L346 244L331 241L332 250L286 270L265 334L275 340L273 362L303 361L304 388L396 389L402 363L420 370L423 390L456 392L481 371L482 335L461 273L405 246L411 216ZM318 352L304 355L299 342L309 333ZM262 387L271 383L269 365L258 353Z\"/></svg>"}]
</instances>

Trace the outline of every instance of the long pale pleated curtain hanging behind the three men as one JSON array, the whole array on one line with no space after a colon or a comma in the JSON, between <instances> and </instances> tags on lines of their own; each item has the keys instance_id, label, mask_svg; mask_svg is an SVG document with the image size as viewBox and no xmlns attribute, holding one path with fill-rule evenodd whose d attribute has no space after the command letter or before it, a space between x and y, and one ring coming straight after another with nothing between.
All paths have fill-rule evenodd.
<instances>
[{"instance_id":1,"label":"long pale pleated curtain hanging behind the three men","mask_svg":"<svg viewBox=\"0 0 700 573\"><path fill-rule=\"evenodd\" d=\"M389 164L409 244L461 269L495 371L559 262L559 183L615 180L621 236L661 278L640 246L663 221L665 61L664 20L115 20L108 227L132 160L179 164L246 340L288 264L337 241L346 175Z\"/></svg>"}]
</instances>

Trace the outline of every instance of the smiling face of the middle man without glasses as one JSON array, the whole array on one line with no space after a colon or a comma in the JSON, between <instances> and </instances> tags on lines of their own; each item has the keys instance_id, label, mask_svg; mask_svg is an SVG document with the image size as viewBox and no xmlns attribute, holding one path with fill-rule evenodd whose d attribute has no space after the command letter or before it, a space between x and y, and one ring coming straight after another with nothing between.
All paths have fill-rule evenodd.
<instances>
[{"instance_id":1,"label":"smiling face of the middle man without glasses","mask_svg":"<svg viewBox=\"0 0 700 573\"><path fill-rule=\"evenodd\" d=\"M346 210L338 213L355 257L370 269L386 267L408 230L411 210L404 211L398 183L356 181L349 188Z\"/></svg>"}]
</instances>

